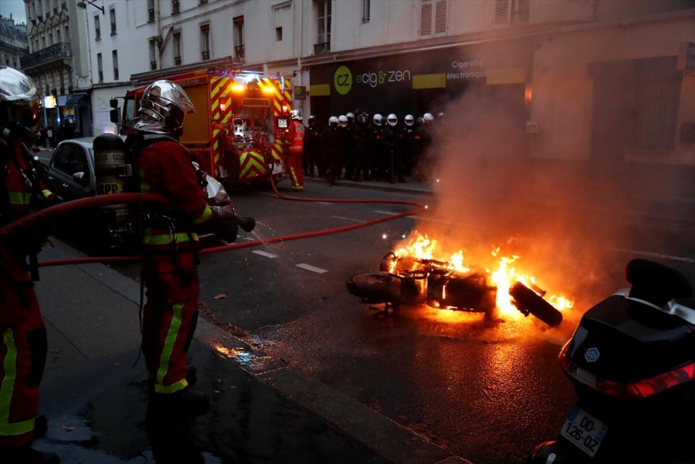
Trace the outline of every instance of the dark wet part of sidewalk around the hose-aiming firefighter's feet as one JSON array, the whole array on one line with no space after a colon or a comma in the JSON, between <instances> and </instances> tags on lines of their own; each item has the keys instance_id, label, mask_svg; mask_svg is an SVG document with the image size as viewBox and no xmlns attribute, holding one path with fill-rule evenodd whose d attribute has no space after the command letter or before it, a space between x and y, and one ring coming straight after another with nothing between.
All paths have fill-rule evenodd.
<instances>
[{"instance_id":1,"label":"dark wet part of sidewalk around the hose-aiming firefighter's feet","mask_svg":"<svg viewBox=\"0 0 695 464\"><path fill-rule=\"evenodd\" d=\"M145 430L147 381L137 351L49 369L42 411L47 437L36 447L64 464L154 463ZM211 463L387 463L272 387L193 342L196 387L211 392L212 411L190 428L193 445ZM176 448L177 442L167 443Z\"/></svg>"}]
</instances>

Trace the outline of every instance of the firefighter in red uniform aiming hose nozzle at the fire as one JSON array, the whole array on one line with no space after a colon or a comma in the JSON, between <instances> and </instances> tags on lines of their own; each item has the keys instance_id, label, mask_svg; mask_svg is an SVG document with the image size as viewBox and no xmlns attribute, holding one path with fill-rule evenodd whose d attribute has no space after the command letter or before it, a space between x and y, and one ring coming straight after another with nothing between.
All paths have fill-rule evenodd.
<instances>
[{"instance_id":1,"label":"firefighter in red uniform aiming hose nozzle at the fire","mask_svg":"<svg viewBox=\"0 0 695 464\"><path fill-rule=\"evenodd\" d=\"M189 385L193 382L187 367L198 316L197 232L234 241L238 227L252 230L255 224L236 216L231 204L206 204L191 154L178 141L189 112L194 112L193 103L183 89L161 80L145 89L139 117L127 123L134 134L126 139L126 149L135 155L140 191L170 200L165 207L147 211L142 237L147 287L142 352L151 385L149 415L165 427L170 421L205 414L210 406L208 396ZM173 438L168 435L170 442Z\"/></svg>"}]
</instances>

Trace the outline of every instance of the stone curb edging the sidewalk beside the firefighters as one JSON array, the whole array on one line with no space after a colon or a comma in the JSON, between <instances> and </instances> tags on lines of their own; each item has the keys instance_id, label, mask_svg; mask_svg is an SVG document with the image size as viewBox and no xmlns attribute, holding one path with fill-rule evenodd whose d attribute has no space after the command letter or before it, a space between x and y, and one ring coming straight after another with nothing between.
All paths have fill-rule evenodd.
<instances>
[{"instance_id":1,"label":"stone curb edging the sidewalk beside the firefighters","mask_svg":"<svg viewBox=\"0 0 695 464\"><path fill-rule=\"evenodd\" d=\"M54 237L51 240L55 251L66 258L85 256ZM100 263L78 264L77 267L117 294L140 304L139 285L125 275ZM198 318L194 338L272 387L282 397L295 401L393 463L472 464L313 376L255 349L202 317Z\"/></svg>"}]
</instances>

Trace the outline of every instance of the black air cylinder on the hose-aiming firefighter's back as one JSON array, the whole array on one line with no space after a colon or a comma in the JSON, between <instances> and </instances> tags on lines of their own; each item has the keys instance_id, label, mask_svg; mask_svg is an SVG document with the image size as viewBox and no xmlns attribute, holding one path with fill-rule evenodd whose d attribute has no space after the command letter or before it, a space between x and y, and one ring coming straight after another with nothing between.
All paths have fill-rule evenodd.
<instances>
[{"instance_id":1,"label":"black air cylinder on the hose-aiming firefighter's back","mask_svg":"<svg viewBox=\"0 0 695 464\"><path fill-rule=\"evenodd\" d=\"M94 139L92 147L97 195L135 191L132 154L126 152L123 139L114 134L101 134ZM128 221L128 205L111 205L103 208L113 211L116 225L122 225Z\"/></svg>"}]
</instances>

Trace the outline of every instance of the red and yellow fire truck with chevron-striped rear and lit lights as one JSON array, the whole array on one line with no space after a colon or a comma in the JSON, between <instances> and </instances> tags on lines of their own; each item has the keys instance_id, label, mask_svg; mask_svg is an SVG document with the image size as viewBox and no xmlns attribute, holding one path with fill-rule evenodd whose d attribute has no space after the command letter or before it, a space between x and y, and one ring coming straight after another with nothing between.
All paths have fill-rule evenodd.
<instances>
[{"instance_id":1,"label":"red and yellow fire truck with chevron-striped rear and lit lights","mask_svg":"<svg viewBox=\"0 0 695 464\"><path fill-rule=\"evenodd\" d=\"M111 100L111 120L121 124L138 116L140 97L158 79L186 90L195 114L186 115L181 143L200 167L227 187L247 182L279 181L286 173L284 136L292 111L288 77L265 77L235 63L203 69L158 70L133 74L138 87L126 93L122 109ZM231 66L229 65L231 64Z\"/></svg>"}]
</instances>

